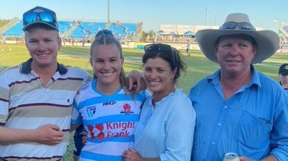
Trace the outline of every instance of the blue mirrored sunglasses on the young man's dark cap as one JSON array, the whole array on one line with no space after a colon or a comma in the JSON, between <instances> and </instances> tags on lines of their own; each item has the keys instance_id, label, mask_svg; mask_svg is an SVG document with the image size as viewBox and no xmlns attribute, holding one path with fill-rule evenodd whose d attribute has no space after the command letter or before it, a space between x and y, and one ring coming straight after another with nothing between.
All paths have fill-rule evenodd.
<instances>
[{"instance_id":1,"label":"blue mirrored sunglasses on the young man's dark cap","mask_svg":"<svg viewBox=\"0 0 288 161\"><path fill-rule=\"evenodd\" d=\"M34 21L43 21L47 23L55 23L56 19L54 18L53 13L51 12L33 12L23 15L23 23L26 26L28 23Z\"/></svg>"}]
</instances>

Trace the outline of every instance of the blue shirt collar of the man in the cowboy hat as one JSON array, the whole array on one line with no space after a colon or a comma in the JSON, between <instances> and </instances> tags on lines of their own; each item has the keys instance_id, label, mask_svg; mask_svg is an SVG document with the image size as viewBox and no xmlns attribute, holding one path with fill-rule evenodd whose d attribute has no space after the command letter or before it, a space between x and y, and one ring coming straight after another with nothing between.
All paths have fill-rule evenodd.
<instances>
[{"instance_id":1,"label":"blue shirt collar of the man in the cowboy hat","mask_svg":"<svg viewBox=\"0 0 288 161\"><path fill-rule=\"evenodd\" d=\"M251 64L251 70L253 72L251 81L246 85L248 86L252 86L253 84L260 86L261 88L261 82L260 82L260 75L257 72L257 70L255 70L254 66ZM220 81L220 70L217 70L213 75L210 75L207 77L207 82L212 82L214 84L216 84L216 82Z\"/></svg>"}]
</instances>

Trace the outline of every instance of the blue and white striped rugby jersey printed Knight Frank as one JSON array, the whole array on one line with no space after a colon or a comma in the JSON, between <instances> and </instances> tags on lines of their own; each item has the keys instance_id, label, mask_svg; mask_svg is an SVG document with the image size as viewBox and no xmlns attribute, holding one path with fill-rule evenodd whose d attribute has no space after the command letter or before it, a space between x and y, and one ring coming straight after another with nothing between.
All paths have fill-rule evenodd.
<instances>
[{"instance_id":1,"label":"blue and white striped rugby jersey printed Knight Frank","mask_svg":"<svg viewBox=\"0 0 288 161\"><path fill-rule=\"evenodd\" d=\"M83 86L74 101L71 124L83 122L88 133L79 160L123 160L122 153L134 144L140 106L151 94L141 91L133 99L119 88L104 95L95 88L96 82Z\"/></svg>"}]
</instances>

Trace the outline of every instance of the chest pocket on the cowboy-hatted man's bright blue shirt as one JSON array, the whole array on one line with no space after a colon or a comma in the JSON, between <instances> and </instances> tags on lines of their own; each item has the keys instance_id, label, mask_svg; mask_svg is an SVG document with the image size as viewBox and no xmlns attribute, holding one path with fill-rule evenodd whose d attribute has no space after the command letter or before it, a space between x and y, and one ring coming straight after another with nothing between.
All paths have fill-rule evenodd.
<instances>
[{"instance_id":1,"label":"chest pocket on the cowboy-hatted man's bright blue shirt","mask_svg":"<svg viewBox=\"0 0 288 161\"><path fill-rule=\"evenodd\" d=\"M257 149L264 142L269 142L271 130L272 123L269 120L244 111L237 125L235 140L245 146Z\"/></svg>"}]
</instances>

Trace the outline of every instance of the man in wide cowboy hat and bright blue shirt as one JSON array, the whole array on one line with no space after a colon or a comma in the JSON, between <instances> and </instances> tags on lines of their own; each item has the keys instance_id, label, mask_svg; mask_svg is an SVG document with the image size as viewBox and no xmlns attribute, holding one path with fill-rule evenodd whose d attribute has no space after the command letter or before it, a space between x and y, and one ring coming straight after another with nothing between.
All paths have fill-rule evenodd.
<instances>
[{"instance_id":1,"label":"man in wide cowboy hat and bright blue shirt","mask_svg":"<svg viewBox=\"0 0 288 161\"><path fill-rule=\"evenodd\" d=\"M271 30L257 31L248 16L228 15L219 30L199 30L196 41L220 69L192 87L196 111L192 160L288 160L288 97L253 67L279 48Z\"/></svg>"}]
</instances>

